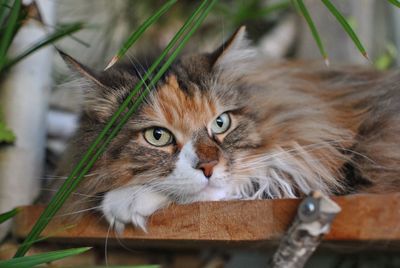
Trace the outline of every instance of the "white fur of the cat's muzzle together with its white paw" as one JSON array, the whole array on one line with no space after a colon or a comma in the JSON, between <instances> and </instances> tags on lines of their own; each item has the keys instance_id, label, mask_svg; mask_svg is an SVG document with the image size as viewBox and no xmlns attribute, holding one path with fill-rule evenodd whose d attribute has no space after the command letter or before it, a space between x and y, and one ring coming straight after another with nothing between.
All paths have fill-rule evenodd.
<instances>
[{"instance_id":1,"label":"white fur of the cat's muzzle together with its white paw","mask_svg":"<svg viewBox=\"0 0 400 268\"><path fill-rule=\"evenodd\" d=\"M118 232L123 231L125 224L146 231L147 218L171 201L183 204L226 199L229 187L224 181L223 168L217 167L213 176L207 179L202 171L194 168L197 161L193 145L188 142L169 176L154 179L145 186L128 185L107 192L101 211Z\"/></svg>"}]
</instances>

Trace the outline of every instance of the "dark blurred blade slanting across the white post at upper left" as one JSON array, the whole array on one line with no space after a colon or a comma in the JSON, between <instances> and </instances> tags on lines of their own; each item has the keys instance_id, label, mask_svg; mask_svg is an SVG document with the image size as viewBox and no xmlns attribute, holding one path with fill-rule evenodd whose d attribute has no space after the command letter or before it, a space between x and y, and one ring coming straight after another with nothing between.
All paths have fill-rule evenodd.
<instances>
[{"instance_id":1,"label":"dark blurred blade slanting across the white post at upper left","mask_svg":"<svg viewBox=\"0 0 400 268\"><path fill-rule=\"evenodd\" d=\"M75 33L77 31L81 30L83 27L84 27L83 23L77 22L77 23L65 25L65 26L58 28L55 32L45 36L43 39L39 40L37 43L35 43L31 47L29 47L28 49L23 51L21 54L19 54L15 58L13 58L9 61L6 61L5 65L4 65L4 69L10 68L11 66L15 65L19 61L23 60L25 57L27 57L30 54L34 53L35 51L41 49L42 47L52 44L65 36L71 35L72 33Z\"/></svg>"}]
</instances>

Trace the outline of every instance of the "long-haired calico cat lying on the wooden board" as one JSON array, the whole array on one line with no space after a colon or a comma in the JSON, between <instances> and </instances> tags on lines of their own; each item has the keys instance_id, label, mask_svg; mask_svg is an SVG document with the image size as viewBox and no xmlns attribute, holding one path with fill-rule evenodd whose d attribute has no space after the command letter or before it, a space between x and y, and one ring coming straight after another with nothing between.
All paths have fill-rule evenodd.
<instances>
[{"instance_id":1,"label":"long-haired calico cat lying on the wooden board","mask_svg":"<svg viewBox=\"0 0 400 268\"><path fill-rule=\"evenodd\" d=\"M68 175L145 70L96 73L64 58L86 94L61 164ZM98 206L117 229L144 229L171 202L397 191L399 81L356 68L266 64L242 27L215 52L169 69L70 204Z\"/></svg>"}]
</instances>

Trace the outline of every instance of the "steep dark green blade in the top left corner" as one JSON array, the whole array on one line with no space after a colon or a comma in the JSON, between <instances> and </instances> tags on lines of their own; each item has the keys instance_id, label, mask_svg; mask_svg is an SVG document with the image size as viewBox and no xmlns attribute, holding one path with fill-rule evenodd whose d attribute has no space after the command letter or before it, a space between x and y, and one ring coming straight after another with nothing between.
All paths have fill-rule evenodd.
<instances>
[{"instance_id":1,"label":"steep dark green blade in the top left corner","mask_svg":"<svg viewBox=\"0 0 400 268\"><path fill-rule=\"evenodd\" d=\"M0 40L0 73L6 62L7 50L15 34L15 29L17 27L20 11L21 11L21 0L15 0L11 8L10 15L8 17L8 21L6 22L7 27L4 30L4 34L1 36Z\"/></svg>"}]
</instances>

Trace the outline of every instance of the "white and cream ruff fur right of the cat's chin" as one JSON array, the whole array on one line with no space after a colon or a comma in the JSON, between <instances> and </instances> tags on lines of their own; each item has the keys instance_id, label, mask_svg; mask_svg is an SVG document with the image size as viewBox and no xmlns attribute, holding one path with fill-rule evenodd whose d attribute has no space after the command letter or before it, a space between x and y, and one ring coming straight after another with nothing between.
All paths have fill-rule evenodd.
<instances>
[{"instance_id":1,"label":"white and cream ruff fur right of the cat's chin","mask_svg":"<svg viewBox=\"0 0 400 268\"><path fill-rule=\"evenodd\" d=\"M257 188L245 189L249 199L296 198L296 190L303 194L318 189L330 193L339 188L337 178L310 151L294 144L292 149L276 148L268 154L244 157L235 166L234 176L254 182ZM240 175L239 175L240 174ZM256 191L254 191L256 190Z\"/></svg>"}]
</instances>

